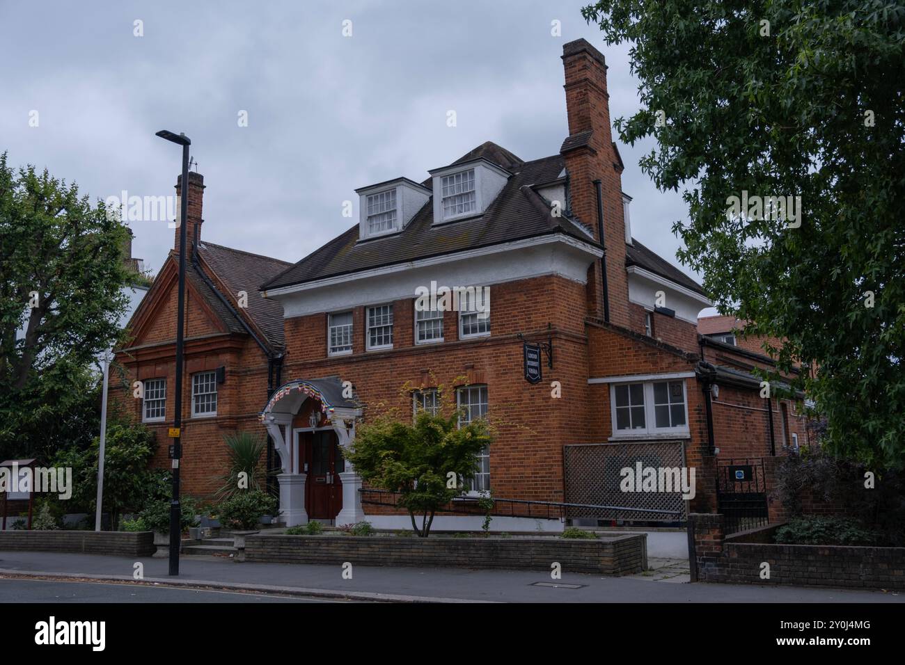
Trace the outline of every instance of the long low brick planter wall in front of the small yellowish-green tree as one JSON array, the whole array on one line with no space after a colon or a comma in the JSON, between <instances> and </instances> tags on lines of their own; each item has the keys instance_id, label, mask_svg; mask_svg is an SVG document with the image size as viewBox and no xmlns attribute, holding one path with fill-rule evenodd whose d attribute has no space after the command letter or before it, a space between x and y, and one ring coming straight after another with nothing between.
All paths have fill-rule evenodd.
<instances>
[{"instance_id":1,"label":"long low brick planter wall in front of the small yellowish-green tree","mask_svg":"<svg viewBox=\"0 0 905 665\"><path fill-rule=\"evenodd\" d=\"M395 537L255 535L245 539L246 561L288 564L416 565L631 575L647 564L646 536Z\"/></svg>"}]
</instances>

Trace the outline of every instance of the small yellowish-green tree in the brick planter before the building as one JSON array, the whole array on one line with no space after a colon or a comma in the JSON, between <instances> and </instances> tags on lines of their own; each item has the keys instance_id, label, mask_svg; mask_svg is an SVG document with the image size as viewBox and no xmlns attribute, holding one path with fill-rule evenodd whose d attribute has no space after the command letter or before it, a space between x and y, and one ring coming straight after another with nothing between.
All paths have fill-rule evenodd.
<instances>
[{"instance_id":1,"label":"small yellowish-green tree in the brick planter before the building","mask_svg":"<svg viewBox=\"0 0 905 665\"><path fill-rule=\"evenodd\" d=\"M491 444L491 432L482 420L460 427L458 411L444 416L419 409L414 424L397 417L390 410L360 425L346 459L362 480L397 492L415 533L427 537L437 508L462 494L474 477L475 457Z\"/></svg>"}]
</instances>

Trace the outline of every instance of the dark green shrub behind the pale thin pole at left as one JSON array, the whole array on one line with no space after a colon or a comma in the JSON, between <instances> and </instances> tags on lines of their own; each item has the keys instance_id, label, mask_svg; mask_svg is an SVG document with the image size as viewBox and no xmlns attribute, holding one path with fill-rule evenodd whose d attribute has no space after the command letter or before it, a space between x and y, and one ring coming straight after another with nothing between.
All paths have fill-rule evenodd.
<instances>
[{"instance_id":1,"label":"dark green shrub behind the pale thin pole at left","mask_svg":"<svg viewBox=\"0 0 905 665\"><path fill-rule=\"evenodd\" d=\"M138 510L149 499L160 499L161 472L148 469L157 450L154 432L140 423L128 421L107 423L104 447L103 508L110 513L113 530L126 510ZM89 511L97 509L98 456L100 438L95 437L87 450L69 448L59 451L53 466L71 467L74 506Z\"/></svg>"}]
</instances>

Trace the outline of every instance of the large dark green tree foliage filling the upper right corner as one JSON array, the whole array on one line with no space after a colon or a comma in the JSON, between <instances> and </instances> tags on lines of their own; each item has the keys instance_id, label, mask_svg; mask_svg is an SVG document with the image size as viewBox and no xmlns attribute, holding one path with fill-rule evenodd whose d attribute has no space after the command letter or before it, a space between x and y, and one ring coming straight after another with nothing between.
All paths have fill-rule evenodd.
<instances>
[{"instance_id":1,"label":"large dark green tree foliage filling the upper right corner","mask_svg":"<svg viewBox=\"0 0 905 665\"><path fill-rule=\"evenodd\" d=\"M905 7L601 0L583 14L632 44L643 109L614 124L655 138L643 171L683 190L681 261L746 332L785 340L766 350L780 370L805 366L831 450L900 466ZM744 191L801 196L800 227L728 214Z\"/></svg>"}]
</instances>

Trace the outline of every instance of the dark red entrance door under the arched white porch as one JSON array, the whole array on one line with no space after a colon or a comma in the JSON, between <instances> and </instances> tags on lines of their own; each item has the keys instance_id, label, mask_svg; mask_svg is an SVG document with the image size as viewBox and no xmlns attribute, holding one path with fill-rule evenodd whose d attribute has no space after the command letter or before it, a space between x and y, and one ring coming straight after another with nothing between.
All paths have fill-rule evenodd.
<instances>
[{"instance_id":1,"label":"dark red entrance door under the arched white porch","mask_svg":"<svg viewBox=\"0 0 905 665\"><path fill-rule=\"evenodd\" d=\"M342 509L339 473L345 470L336 432L306 432L304 459L308 464L308 479L305 481L308 517L335 519Z\"/></svg>"}]
</instances>

